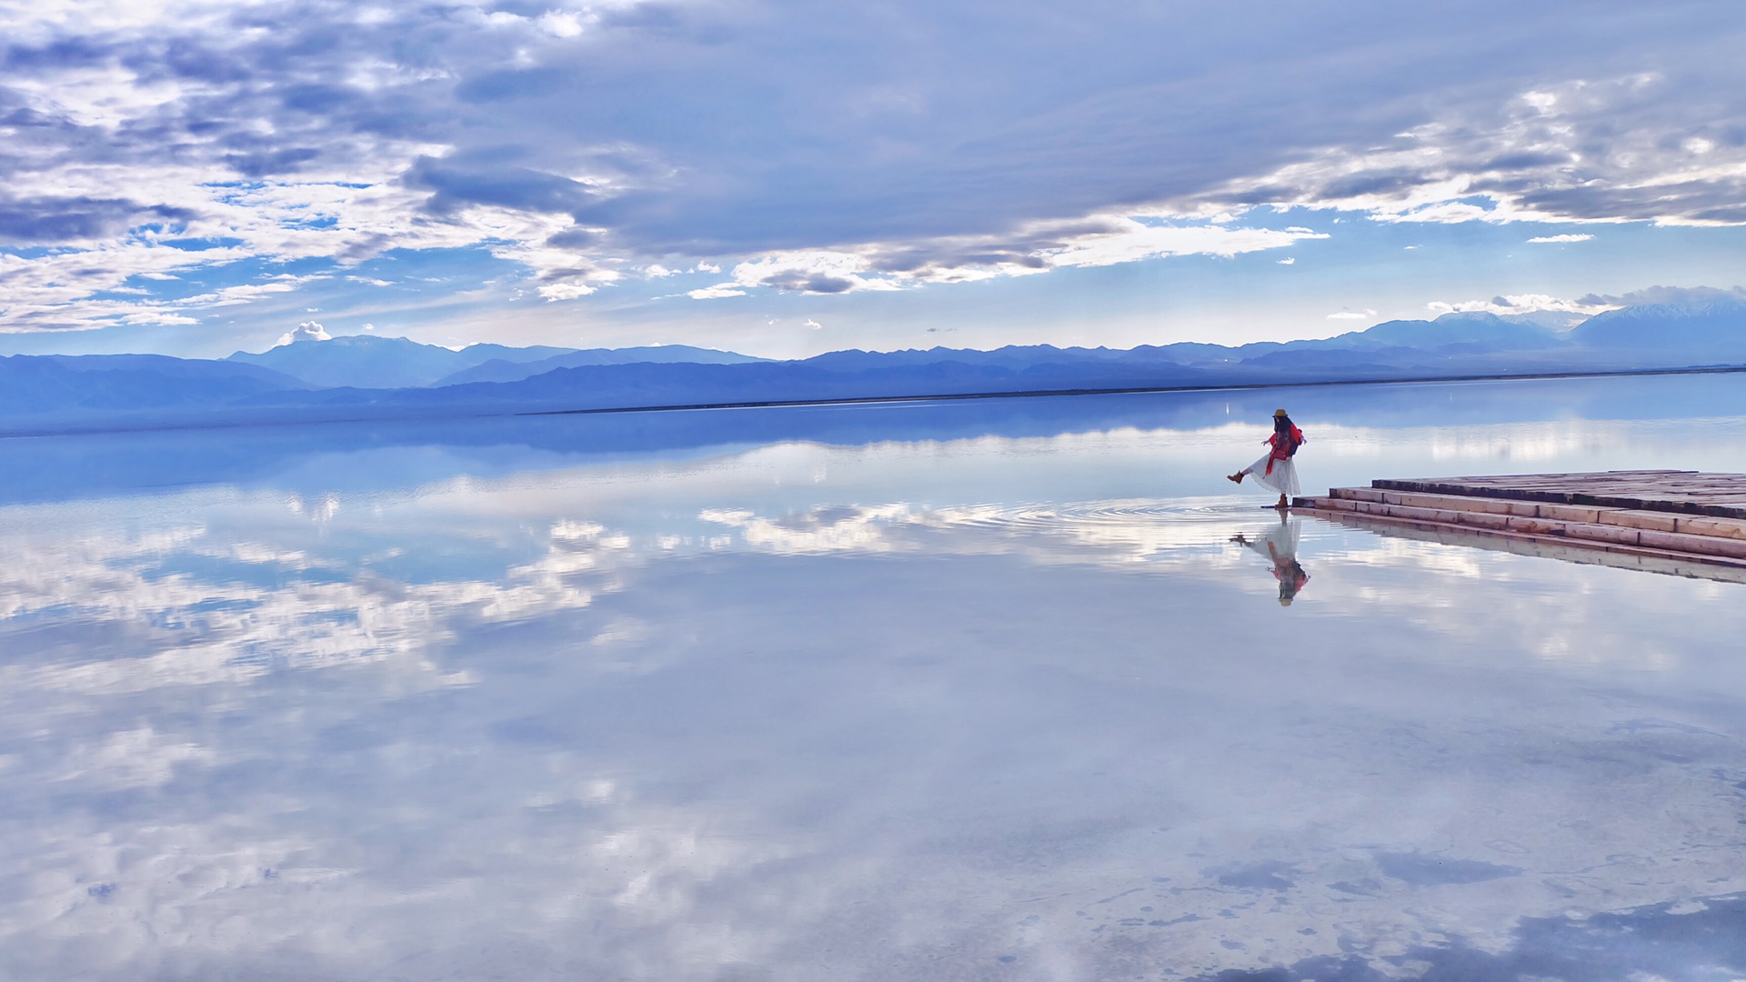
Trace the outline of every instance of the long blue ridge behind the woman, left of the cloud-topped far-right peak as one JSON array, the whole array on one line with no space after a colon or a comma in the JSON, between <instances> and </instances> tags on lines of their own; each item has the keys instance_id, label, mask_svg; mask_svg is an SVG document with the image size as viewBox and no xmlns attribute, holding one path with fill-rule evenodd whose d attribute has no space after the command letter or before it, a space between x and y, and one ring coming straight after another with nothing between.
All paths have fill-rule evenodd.
<instances>
[{"instance_id":1,"label":"long blue ridge behind the woman, left of the cloud-topped far-right peak","mask_svg":"<svg viewBox=\"0 0 1746 982\"><path fill-rule=\"evenodd\" d=\"M601 360L595 353L578 353ZM632 355L636 356L636 355ZM560 356L562 358L562 356ZM560 358L524 363L545 367ZM250 402L300 405L611 409L805 402L915 395L1088 391L1339 379L1409 379L1629 369L1568 334L1491 313L1386 322L1337 337L1243 346L1163 344L1133 349L1006 346L831 351L800 362L623 362L552 369L508 381L473 381L395 393L267 393ZM499 372L496 365L477 376ZM466 377L466 376L461 376Z\"/></svg>"}]
</instances>

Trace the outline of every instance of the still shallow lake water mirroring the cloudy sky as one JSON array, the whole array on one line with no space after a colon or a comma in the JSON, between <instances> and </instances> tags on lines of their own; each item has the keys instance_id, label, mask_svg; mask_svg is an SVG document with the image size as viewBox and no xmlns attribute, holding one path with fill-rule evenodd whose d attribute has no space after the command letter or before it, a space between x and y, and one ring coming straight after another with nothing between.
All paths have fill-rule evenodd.
<instances>
[{"instance_id":1,"label":"still shallow lake water mirroring the cloudy sky","mask_svg":"<svg viewBox=\"0 0 1746 982\"><path fill-rule=\"evenodd\" d=\"M3 440L0 970L1737 975L1746 587L1219 475L1746 470L1741 388Z\"/></svg>"}]
</instances>

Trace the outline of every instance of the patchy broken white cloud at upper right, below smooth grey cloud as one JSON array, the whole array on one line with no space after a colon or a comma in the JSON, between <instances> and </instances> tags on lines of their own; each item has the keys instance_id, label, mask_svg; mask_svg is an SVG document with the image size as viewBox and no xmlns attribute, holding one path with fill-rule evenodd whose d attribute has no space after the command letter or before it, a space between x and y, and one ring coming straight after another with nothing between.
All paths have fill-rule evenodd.
<instances>
[{"instance_id":1,"label":"patchy broken white cloud at upper right, below smooth grey cloud","mask_svg":"<svg viewBox=\"0 0 1746 982\"><path fill-rule=\"evenodd\" d=\"M1379 145L1327 147L1201 199L1357 208L1390 222L1743 224L1746 114L1718 103L1713 80L1571 77L1451 107Z\"/></svg>"}]
</instances>

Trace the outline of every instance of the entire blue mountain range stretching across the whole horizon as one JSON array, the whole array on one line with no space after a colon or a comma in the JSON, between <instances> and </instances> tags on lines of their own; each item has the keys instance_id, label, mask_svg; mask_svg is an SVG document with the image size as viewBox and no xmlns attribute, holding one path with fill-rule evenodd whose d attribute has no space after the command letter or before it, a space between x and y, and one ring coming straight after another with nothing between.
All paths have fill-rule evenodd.
<instances>
[{"instance_id":1,"label":"entire blue mountain range stretching across the whole horizon","mask_svg":"<svg viewBox=\"0 0 1746 982\"><path fill-rule=\"evenodd\" d=\"M0 358L0 419L21 432L117 416L442 416L1746 365L1746 295L1715 294L1626 306L1566 330L1536 316L1449 313L1241 346L849 349L775 362L679 344L450 349L346 335L222 360L14 355Z\"/></svg>"}]
</instances>

